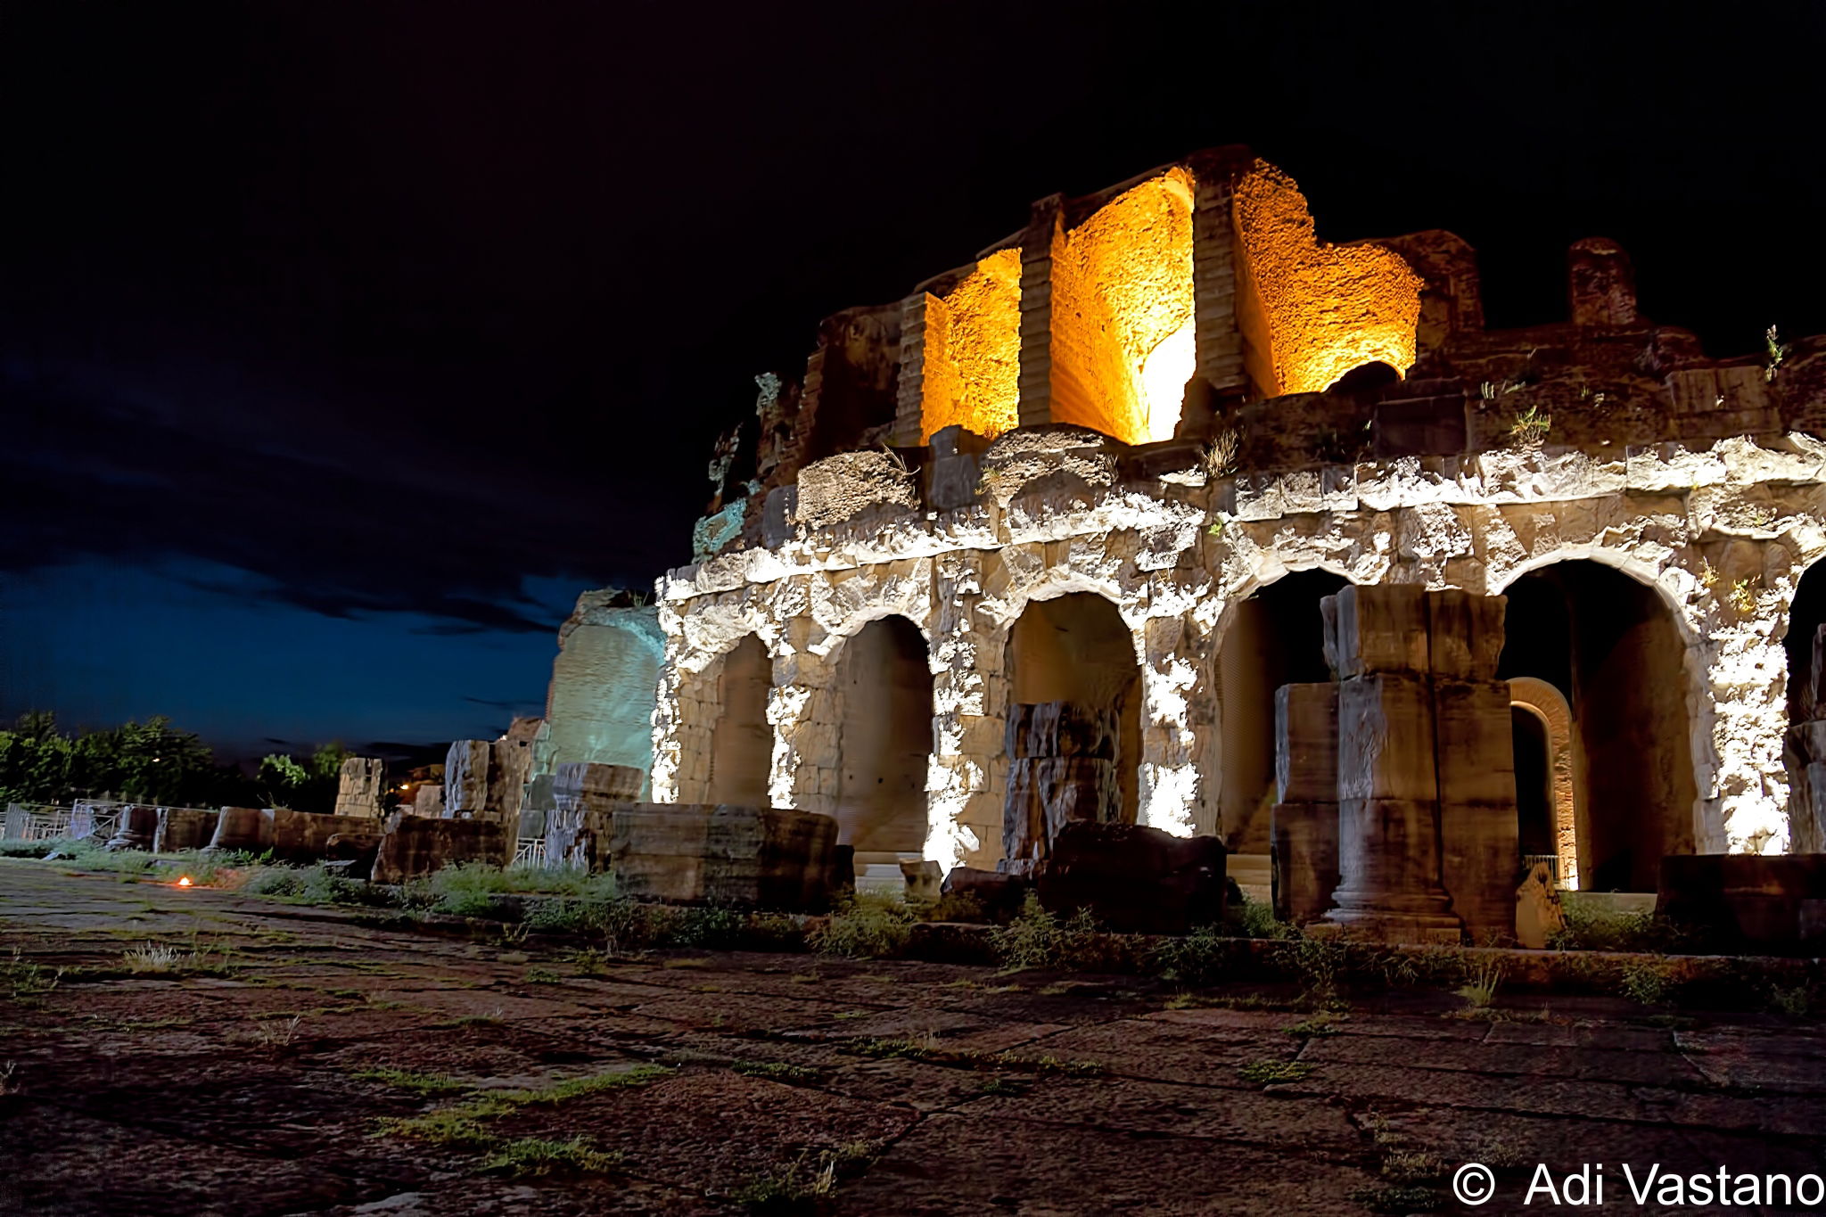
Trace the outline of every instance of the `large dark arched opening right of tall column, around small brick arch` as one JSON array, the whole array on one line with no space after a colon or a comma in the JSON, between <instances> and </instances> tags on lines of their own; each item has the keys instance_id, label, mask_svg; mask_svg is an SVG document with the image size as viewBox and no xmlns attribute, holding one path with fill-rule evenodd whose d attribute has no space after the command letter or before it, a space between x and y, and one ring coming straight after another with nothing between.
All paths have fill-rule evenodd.
<instances>
[{"instance_id":1,"label":"large dark arched opening right of tall column, around small brick arch","mask_svg":"<svg viewBox=\"0 0 1826 1217\"><path fill-rule=\"evenodd\" d=\"M1693 852L1698 797L1673 613L1653 588L1589 560L1523 575L1505 595L1497 675L1547 681L1572 708L1579 887L1653 892L1662 858Z\"/></svg>"}]
</instances>

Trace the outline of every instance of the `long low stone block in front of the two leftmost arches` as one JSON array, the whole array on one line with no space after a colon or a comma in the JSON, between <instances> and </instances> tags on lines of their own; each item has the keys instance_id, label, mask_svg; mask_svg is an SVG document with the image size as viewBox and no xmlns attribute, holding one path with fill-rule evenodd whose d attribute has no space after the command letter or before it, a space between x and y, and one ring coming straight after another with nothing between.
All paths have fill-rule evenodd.
<instances>
[{"instance_id":1,"label":"long low stone block in front of the two leftmost arches","mask_svg":"<svg viewBox=\"0 0 1826 1217\"><path fill-rule=\"evenodd\" d=\"M637 900L820 910L834 858L836 821L787 808L632 803L610 827L617 889Z\"/></svg>"}]
</instances>

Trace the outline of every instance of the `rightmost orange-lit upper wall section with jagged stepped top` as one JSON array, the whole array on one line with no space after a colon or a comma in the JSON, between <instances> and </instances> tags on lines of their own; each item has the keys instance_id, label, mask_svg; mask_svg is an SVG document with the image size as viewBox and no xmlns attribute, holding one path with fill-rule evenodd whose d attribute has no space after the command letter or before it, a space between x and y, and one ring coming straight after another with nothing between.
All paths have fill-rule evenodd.
<instances>
[{"instance_id":1,"label":"rightmost orange-lit upper wall section with jagged stepped top","mask_svg":"<svg viewBox=\"0 0 1826 1217\"><path fill-rule=\"evenodd\" d=\"M1260 389L1320 392L1364 363L1415 359L1421 277L1377 244L1328 244L1291 177L1256 161L1236 184L1238 321Z\"/></svg>"}]
</instances>

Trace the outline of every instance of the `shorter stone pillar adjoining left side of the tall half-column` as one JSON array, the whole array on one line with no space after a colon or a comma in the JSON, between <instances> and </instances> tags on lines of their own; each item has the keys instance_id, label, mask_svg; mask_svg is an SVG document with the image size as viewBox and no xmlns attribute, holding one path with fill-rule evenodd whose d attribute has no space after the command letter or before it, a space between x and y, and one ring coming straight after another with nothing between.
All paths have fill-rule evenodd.
<instances>
[{"instance_id":1,"label":"shorter stone pillar adjoining left side of the tall half-column","mask_svg":"<svg viewBox=\"0 0 1826 1217\"><path fill-rule=\"evenodd\" d=\"M1338 885L1337 684L1275 690L1275 916L1306 925L1324 916Z\"/></svg>"}]
</instances>

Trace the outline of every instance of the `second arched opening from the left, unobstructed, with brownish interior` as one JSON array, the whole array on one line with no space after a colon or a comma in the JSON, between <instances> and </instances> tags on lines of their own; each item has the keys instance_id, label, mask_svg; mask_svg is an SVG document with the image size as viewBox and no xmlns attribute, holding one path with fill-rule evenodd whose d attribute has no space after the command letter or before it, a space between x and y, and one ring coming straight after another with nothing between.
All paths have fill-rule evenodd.
<instances>
[{"instance_id":1,"label":"second arched opening from the left, unobstructed, with brownish interior","mask_svg":"<svg viewBox=\"0 0 1826 1217\"><path fill-rule=\"evenodd\" d=\"M884 617L844 642L836 684L838 841L864 854L926 848L926 765L931 755L931 664L906 617ZM891 859L884 859L891 861Z\"/></svg>"}]
</instances>

